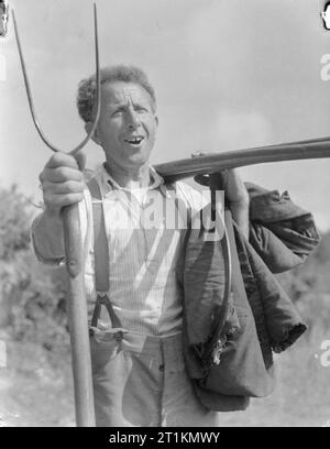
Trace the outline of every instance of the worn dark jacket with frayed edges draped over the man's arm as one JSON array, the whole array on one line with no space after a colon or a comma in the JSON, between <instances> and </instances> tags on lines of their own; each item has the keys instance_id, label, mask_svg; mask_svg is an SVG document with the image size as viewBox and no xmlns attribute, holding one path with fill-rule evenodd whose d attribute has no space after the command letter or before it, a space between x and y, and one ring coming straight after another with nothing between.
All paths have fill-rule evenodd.
<instances>
[{"instance_id":1,"label":"worn dark jacket with frayed edges draped over the man's arm","mask_svg":"<svg viewBox=\"0 0 330 449\"><path fill-rule=\"evenodd\" d=\"M273 352L293 344L306 325L273 273L302 263L319 242L312 216L296 206L287 193L279 195L253 184L246 187L250 241L233 223L232 297L218 341L218 366L205 354L215 355L209 344L224 292L219 242L188 233L182 266L186 366L200 401L217 410L244 409L250 396L264 396L274 390Z\"/></svg>"}]
</instances>

